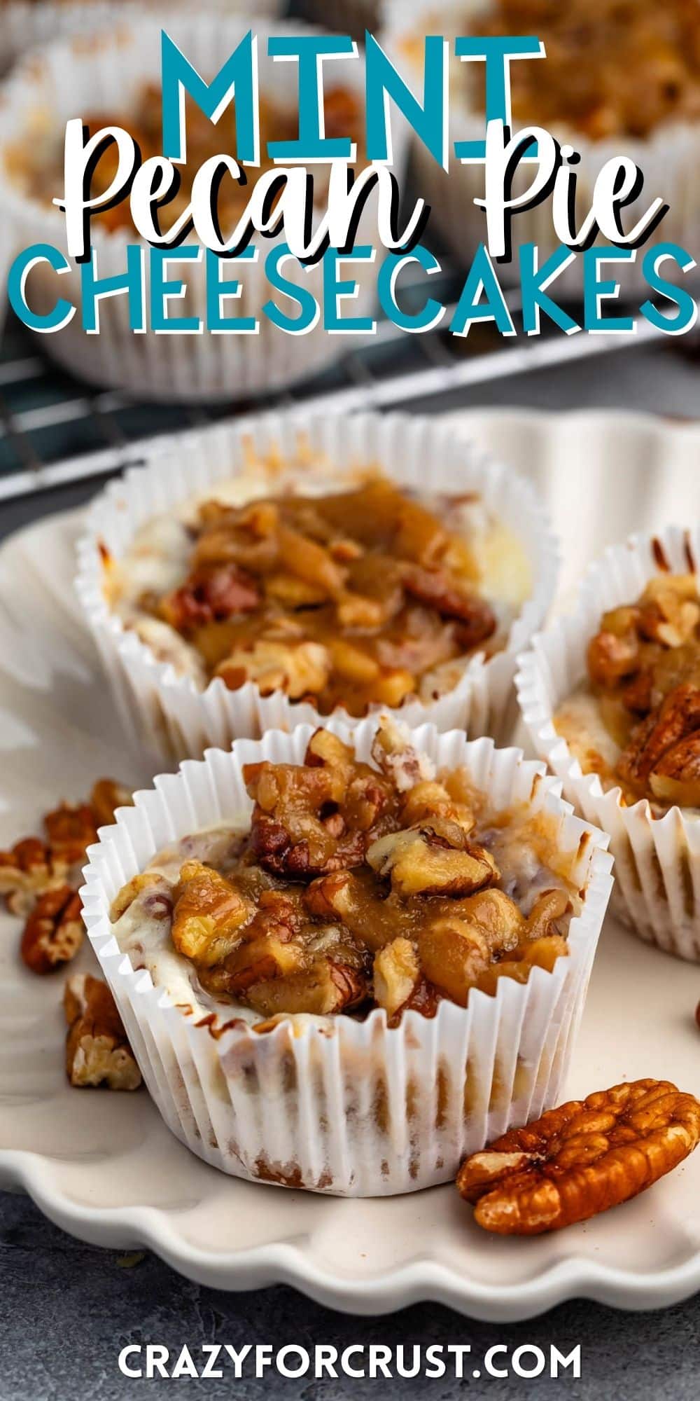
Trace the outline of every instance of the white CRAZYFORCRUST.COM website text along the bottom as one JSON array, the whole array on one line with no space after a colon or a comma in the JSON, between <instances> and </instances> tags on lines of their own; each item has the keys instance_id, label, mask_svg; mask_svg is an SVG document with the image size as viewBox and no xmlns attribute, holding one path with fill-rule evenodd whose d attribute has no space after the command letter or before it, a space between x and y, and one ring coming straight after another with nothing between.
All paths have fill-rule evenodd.
<instances>
[{"instance_id":1,"label":"white CRAZYFORCRUST.COM website text along the bottom","mask_svg":"<svg viewBox=\"0 0 700 1401\"><path fill-rule=\"evenodd\" d=\"M125 1377L263 1377L276 1373L280 1377L580 1377L581 1345L568 1352L556 1346L539 1348L533 1342L510 1348L494 1344L480 1355L468 1342L399 1344L391 1348L384 1344L356 1342L346 1348L332 1344L318 1344L302 1348L291 1342L281 1348L272 1344L245 1344L234 1348L231 1344L203 1344L199 1348L186 1345L165 1348L161 1344L126 1344L119 1353L119 1370Z\"/></svg>"}]
</instances>

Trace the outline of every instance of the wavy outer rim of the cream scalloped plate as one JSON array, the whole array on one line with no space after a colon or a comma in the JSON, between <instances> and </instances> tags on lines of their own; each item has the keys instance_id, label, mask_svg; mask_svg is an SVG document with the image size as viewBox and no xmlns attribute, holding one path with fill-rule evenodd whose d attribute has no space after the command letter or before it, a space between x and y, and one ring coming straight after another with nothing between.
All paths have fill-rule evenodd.
<instances>
[{"instance_id":1,"label":"wavy outer rim of the cream scalloped plate","mask_svg":"<svg viewBox=\"0 0 700 1401\"><path fill-rule=\"evenodd\" d=\"M519 420L545 430L585 419L602 429L609 427L610 432L629 427L654 437L690 436L700 440L697 420L666 419L645 410L605 408L542 410L476 405L452 410L449 417L462 422L465 429L479 422L496 432L504 419L511 425ZM206 434L209 429L192 432ZM162 451L162 444L151 451ZM0 541L0 563L3 555L15 548L25 535L39 527L60 530L69 521L77 523L83 510L78 507L50 513L20 527ZM27 1149L0 1149L0 1188L25 1191L49 1220L80 1240L106 1248L150 1250L186 1278L223 1290L245 1292L280 1283L290 1285L319 1304L356 1316L386 1314L430 1300L489 1323L535 1318L574 1297L630 1311L662 1309L700 1290L700 1244L697 1252L680 1265L659 1271L616 1269L571 1252L517 1285L473 1283L456 1268L426 1257L395 1269L385 1269L371 1281L344 1279L332 1269L322 1269L309 1261L302 1248L287 1241L252 1245L242 1251L211 1252L179 1236L176 1224L160 1208L78 1203L67 1194L52 1188L48 1166L50 1159L41 1153ZM526 1248L526 1243L522 1244Z\"/></svg>"}]
</instances>

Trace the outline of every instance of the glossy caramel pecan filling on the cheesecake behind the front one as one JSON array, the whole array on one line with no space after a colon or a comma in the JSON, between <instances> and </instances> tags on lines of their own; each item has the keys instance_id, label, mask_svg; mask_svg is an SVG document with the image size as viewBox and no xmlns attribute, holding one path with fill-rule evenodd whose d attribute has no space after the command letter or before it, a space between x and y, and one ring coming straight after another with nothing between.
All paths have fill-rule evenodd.
<instances>
[{"instance_id":1,"label":"glossy caramel pecan filling on the cheesecake behind the front one","mask_svg":"<svg viewBox=\"0 0 700 1401\"><path fill-rule=\"evenodd\" d=\"M172 567L151 569L158 542L137 539L108 587L126 626L202 686L253 682L363 716L430 700L469 656L503 647L508 609L483 597L461 514L475 509L469 496L427 504L378 475L325 495L204 500ZM510 532L501 545L522 558Z\"/></svg>"}]
</instances>

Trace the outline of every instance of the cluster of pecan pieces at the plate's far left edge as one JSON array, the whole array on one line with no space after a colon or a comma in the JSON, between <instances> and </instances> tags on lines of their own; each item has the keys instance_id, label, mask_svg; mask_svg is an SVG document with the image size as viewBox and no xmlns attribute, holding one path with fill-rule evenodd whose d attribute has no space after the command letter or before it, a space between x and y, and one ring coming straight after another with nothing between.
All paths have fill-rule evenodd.
<instances>
[{"instance_id":1,"label":"cluster of pecan pieces at the plate's far left edge","mask_svg":"<svg viewBox=\"0 0 700 1401\"><path fill-rule=\"evenodd\" d=\"M32 972L69 962L83 943L77 895L85 849L115 810L130 804L129 789L98 779L88 803L60 807L43 818L45 836L25 836L0 852L0 897L11 915L25 920L21 957Z\"/></svg>"}]
</instances>

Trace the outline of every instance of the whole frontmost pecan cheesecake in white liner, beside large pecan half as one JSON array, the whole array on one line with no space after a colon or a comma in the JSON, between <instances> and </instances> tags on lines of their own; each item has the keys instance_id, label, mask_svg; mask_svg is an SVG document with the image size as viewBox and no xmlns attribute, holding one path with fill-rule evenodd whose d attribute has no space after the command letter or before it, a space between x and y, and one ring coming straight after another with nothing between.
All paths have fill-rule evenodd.
<instances>
[{"instance_id":1,"label":"whole frontmost pecan cheesecake in white liner, beside large pecan half","mask_svg":"<svg viewBox=\"0 0 700 1401\"><path fill-rule=\"evenodd\" d=\"M301 726L139 794L92 848L84 918L193 1152L281 1185L413 1191L556 1103L609 895L601 841L490 740Z\"/></svg>"}]
</instances>

